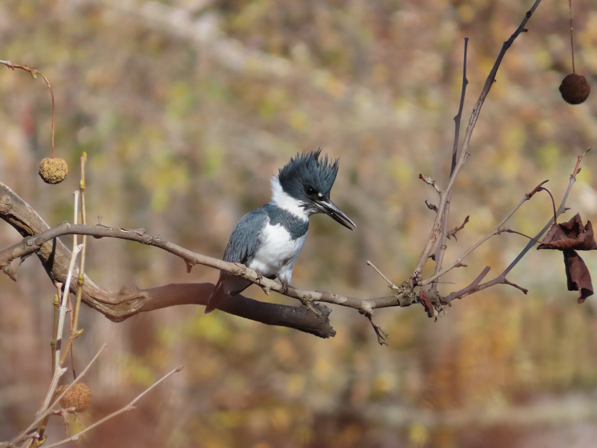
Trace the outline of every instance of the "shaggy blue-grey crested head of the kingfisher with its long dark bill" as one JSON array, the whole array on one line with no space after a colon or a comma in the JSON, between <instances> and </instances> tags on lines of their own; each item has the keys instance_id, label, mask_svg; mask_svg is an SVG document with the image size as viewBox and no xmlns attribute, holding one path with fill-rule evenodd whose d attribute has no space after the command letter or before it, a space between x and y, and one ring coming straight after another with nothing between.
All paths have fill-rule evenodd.
<instances>
[{"instance_id":1,"label":"shaggy blue-grey crested head of the kingfisher with its long dark bill","mask_svg":"<svg viewBox=\"0 0 597 448\"><path fill-rule=\"evenodd\" d=\"M352 230L356 224L330 200L330 191L338 174L338 159L328 163L327 155L319 158L320 154L321 148L297 154L280 168L278 180L282 191L298 201L307 214L325 213Z\"/></svg>"}]
</instances>

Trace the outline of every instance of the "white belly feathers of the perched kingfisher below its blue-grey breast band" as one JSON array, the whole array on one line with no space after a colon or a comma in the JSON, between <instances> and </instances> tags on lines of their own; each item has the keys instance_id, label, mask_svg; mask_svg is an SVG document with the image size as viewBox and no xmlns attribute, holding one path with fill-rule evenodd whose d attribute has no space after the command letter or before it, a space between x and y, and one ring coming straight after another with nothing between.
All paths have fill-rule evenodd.
<instances>
[{"instance_id":1,"label":"white belly feathers of the perched kingfisher below its blue-grey breast band","mask_svg":"<svg viewBox=\"0 0 597 448\"><path fill-rule=\"evenodd\" d=\"M303 248L307 234L296 240L291 240L290 234L281 225L267 224L260 235L261 245L257 249L249 268L259 272L264 277L284 274L290 282L294 262Z\"/></svg>"}]
</instances>

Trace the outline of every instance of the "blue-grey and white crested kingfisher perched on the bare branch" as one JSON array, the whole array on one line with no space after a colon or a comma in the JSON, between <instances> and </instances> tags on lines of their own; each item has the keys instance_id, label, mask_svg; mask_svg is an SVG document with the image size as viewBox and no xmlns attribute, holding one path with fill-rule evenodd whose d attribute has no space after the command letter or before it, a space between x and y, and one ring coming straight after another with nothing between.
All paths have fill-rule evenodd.
<instances>
[{"instance_id":1,"label":"blue-grey and white crested kingfisher perched on the bare branch","mask_svg":"<svg viewBox=\"0 0 597 448\"><path fill-rule=\"evenodd\" d=\"M327 155L320 159L319 154L321 148L297 154L277 178L272 176L272 200L239 220L224 251L225 261L242 263L263 277L278 277L287 289L312 214L325 213L350 230L356 226L330 200L338 159L328 164ZM235 296L250 284L246 278L220 271L205 313L216 309L224 296Z\"/></svg>"}]
</instances>

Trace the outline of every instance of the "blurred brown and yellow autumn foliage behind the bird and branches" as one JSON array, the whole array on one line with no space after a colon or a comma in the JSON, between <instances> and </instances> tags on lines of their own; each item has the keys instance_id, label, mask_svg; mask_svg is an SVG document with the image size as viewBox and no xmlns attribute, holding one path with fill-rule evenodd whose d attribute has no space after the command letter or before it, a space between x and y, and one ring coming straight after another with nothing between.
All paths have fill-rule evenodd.
<instances>
[{"instance_id":1,"label":"blurred brown and yellow autumn foliage behind the bird and branches","mask_svg":"<svg viewBox=\"0 0 597 448\"><path fill-rule=\"evenodd\" d=\"M447 179L470 38L463 125L502 42L532 2L504 0L4 0L0 59L39 69L56 94L56 151L69 177L36 174L50 155L51 103L41 79L0 69L0 179L49 225L72 220L86 151L87 216L143 226L221 256L236 220L269 201L269 176L298 151L340 157L333 200L349 232L312 219L293 283L359 297L388 293L365 265L400 283L429 234L436 202L417 179ZM577 72L597 84L597 8L574 3ZM597 93L570 106L568 2L544 1L515 41L458 179L454 259L541 180L559 200L577 155L595 145ZM595 219L595 155L568 205ZM539 194L509 222L533 235L552 213ZM2 247L19 241L0 222ZM70 238L64 238L70 244ZM444 278L460 289L498 274L524 247L495 237ZM597 273L595 254L583 254ZM109 289L215 281L217 272L120 240L89 240L87 273ZM54 289L35 257L0 277L0 440L33 418L50 381ZM595 299L579 306L560 253L531 251L499 286L433 322L420 306L382 309L389 348L349 309L320 340L221 312L181 306L112 323L82 309L78 371L91 370L80 428L118 409L178 364L182 372L90 432L86 447L585 447L597 437ZM285 297L254 297L292 303ZM50 441L64 434L54 419Z\"/></svg>"}]
</instances>

